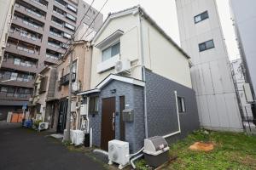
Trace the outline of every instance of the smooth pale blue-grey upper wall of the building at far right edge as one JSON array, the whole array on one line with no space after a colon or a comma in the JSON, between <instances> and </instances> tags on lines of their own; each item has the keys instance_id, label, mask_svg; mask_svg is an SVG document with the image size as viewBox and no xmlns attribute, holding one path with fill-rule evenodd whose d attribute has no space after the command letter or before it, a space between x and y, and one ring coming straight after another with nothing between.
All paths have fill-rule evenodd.
<instances>
[{"instance_id":1,"label":"smooth pale blue-grey upper wall of the building at far right edge","mask_svg":"<svg viewBox=\"0 0 256 170\"><path fill-rule=\"evenodd\" d=\"M230 4L241 57L247 65L247 73L251 79L253 91L256 93L256 1L231 0Z\"/></svg>"}]
</instances>

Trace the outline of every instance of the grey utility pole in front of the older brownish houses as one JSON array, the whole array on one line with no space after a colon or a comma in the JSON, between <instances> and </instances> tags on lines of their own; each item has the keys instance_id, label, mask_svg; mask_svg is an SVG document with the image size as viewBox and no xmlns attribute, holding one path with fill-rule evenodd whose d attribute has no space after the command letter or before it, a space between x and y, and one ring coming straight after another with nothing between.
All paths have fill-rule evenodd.
<instances>
[{"instance_id":1,"label":"grey utility pole in front of the older brownish houses","mask_svg":"<svg viewBox=\"0 0 256 170\"><path fill-rule=\"evenodd\" d=\"M69 75L68 75L68 103L67 103L67 121L66 121L66 129L67 134L64 135L64 141L70 141L70 116L71 116L71 103L72 103L72 75L73 75L73 41L74 37L71 37L71 45L70 45L70 59L69 59Z\"/></svg>"}]
</instances>

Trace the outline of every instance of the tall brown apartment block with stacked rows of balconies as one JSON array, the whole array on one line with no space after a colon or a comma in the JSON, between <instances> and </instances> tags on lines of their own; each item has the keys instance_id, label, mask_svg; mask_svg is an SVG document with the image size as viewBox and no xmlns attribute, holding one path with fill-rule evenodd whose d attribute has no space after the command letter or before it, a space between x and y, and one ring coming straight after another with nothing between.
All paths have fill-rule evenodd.
<instances>
[{"instance_id":1,"label":"tall brown apartment block with stacked rows of balconies","mask_svg":"<svg viewBox=\"0 0 256 170\"><path fill-rule=\"evenodd\" d=\"M60 63L67 40L81 23L97 31L102 14L83 0L16 0L7 48L0 70L0 113L21 111L32 95L36 74ZM84 18L84 20L82 20ZM77 37L78 38L78 37Z\"/></svg>"}]
</instances>

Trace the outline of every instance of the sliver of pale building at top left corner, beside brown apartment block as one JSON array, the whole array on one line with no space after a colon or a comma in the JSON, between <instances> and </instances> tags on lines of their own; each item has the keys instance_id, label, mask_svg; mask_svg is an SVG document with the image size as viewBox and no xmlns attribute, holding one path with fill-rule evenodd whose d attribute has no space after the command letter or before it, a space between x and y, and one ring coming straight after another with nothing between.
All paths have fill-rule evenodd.
<instances>
[{"instance_id":1,"label":"sliver of pale building at top left corner, beside brown apartment block","mask_svg":"<svg viewBox=\"0 0 256 170\"><path fill-rule=\"evenodd\" d=\"M10 23L14 14L15 0L0 0L0 67L3 61L3 54L6 48Z\"/></svg>"}]
</instances>

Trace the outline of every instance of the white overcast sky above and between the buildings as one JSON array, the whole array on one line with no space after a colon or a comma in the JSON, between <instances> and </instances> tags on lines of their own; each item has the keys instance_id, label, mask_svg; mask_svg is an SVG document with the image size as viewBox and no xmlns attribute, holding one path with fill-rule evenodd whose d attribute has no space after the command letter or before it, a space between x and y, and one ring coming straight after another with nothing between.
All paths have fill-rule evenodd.
<instances>
[{"instance_id":1,"label":"white overcast sky above and between the buildings","mask_svg":"<svg viewBox=\"0 0 256 170\"><path fill-rule=\"evenodd\" d=\"M84 1L90 4L92 0ZM95 0L93 7L99 10L105 1ZM229 57L230 59L236 59L239 56L239 52L236 48L235 32L230 20L229 0L216 1ZM108 0L107 5L102 9L104 20L107 18L109 12L131 8L137 4L140 4L177 44L180 44L175 0Z\"/></svg>"}]
</instances>

